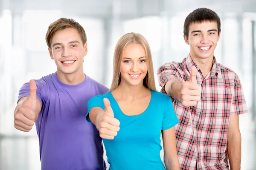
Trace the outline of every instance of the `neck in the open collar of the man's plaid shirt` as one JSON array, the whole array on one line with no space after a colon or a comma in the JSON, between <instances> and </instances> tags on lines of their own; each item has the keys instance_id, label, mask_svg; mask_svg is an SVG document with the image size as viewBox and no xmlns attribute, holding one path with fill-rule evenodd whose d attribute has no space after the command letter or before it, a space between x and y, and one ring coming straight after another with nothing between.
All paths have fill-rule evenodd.
<instances>
[{"instance_id":1,"label":"neck in the open collar of the man's plaid shirt","mask_svg":"<svg viewBox=\"0 0 256 170\"><path fill-rule=\"evenodd\" d=\"M200 68L203 76L206 77L207 74L212 70L213 56L207 57L205 59L194 57L193 55L190 56L192 60L195 62L195 64Z\"/></svg>"}]
</instances>

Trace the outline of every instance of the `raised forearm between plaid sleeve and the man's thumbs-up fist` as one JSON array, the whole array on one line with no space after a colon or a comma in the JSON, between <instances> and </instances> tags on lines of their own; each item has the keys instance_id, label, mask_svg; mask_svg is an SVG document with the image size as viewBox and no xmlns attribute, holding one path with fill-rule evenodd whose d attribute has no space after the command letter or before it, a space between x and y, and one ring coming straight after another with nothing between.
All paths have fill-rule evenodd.
<instances>
[{"instance_id":1,"label":"raised forearm between plaid sleeve and the man's thumbs-up fist","mask_svg":"<svg viewBox=\"0 0 256 170\"><path fill-rule=\"evenodd\" d=\"M181 101L180 90L182 82L179 79L170 79L165 85L165 91L178 102Z\"/></svg>"}]
</instances>

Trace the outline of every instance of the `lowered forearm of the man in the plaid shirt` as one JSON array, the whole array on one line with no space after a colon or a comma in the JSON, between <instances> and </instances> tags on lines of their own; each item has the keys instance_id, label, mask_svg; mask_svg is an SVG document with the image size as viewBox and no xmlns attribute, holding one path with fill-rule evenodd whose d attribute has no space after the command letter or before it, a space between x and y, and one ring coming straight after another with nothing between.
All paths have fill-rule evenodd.
<instances>
[{"instance_id":1,"label":"lowered forearm of the man in the plaid shirt","mask_svg":"<svg viewBox=\"0 0 256 170\"><path fill-rule=\"evenodd\" d=\"M241 169L241 133L228 136L227 152L230 162L230 170Z\"/></svg>"}]
</instances>

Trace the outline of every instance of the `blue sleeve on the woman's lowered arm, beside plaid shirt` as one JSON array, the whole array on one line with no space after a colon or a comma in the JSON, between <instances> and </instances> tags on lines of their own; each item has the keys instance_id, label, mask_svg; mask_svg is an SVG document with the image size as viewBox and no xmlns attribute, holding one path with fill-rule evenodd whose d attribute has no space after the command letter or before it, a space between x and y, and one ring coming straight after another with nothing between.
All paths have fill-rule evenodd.
<instances>
[{"instance_id":1,"label":"blue sleeve on the woman's lowered arm, beside plaid shirt","mask_svg":"<svg viewBox=\"0 0 256 170\"><path fill-rule=\"evenodd\" d=\"M162 130L170 129L179 123L179 119L177 118L174 112L172 99L170 99L169 96L167 95L166 95L166 98L167 98L167 109L163 115Z\"/></svg>"}]
</instances>

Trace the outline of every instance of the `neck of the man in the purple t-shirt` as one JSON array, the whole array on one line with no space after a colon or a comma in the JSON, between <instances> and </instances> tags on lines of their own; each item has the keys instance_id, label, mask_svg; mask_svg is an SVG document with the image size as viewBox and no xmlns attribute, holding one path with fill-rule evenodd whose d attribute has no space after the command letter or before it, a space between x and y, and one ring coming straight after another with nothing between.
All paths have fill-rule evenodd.
<instances>
[{"instance_id":1,"label":"neck of the man in the purple t-shirt","mask_svg":"<svg viewBox=\"0 0 256 170\"><path fill-rule=\"evenodd\" d=\"M86 78L83 71L77 71L72 74L64 74L57 70L58 79L67 85L78 85Z\"/></svg>"}]
</instances>

